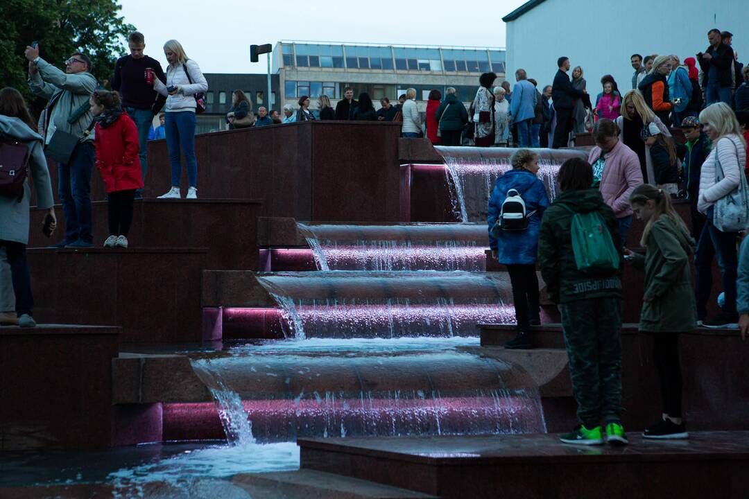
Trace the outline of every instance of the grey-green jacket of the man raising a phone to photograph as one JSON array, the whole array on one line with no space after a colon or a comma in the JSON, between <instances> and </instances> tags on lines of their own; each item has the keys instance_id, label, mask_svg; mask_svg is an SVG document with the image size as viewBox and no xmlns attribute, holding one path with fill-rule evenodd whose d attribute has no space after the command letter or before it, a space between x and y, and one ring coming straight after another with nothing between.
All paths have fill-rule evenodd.
<instances>
[{"instance_id":1,"label":"grey-green jacket of the man raising a phone to photograph","mask_svg":"<svg viewBox=\"0 0 749 499\"><path fill-rule=\"evenodd\" d=\"M51 110L46 109L40 122L39 129L45 144L49 143L56 130L78 138L85 135L85 129L94 119L88 108L88 99L96 87L96 78L91 73L68 74L44 59L37 61L37 73L28 76L28 88L37 97L54 103ZM68 123L68 118L76 114L80 114L78 119ZM85 140L94 140L94 134L89 134Z\"/></svg>"}]
</instances>

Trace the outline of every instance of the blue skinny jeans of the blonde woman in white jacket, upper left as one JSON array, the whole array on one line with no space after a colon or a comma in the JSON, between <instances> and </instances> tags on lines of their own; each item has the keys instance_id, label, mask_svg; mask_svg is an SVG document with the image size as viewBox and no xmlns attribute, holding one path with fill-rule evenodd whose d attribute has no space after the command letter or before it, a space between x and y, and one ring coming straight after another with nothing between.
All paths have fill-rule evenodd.
<instances>
[{"instance_id":1,"label":"blue skinny jeans of the blonde woman in white jacket, upper left","mask_svg":"<svg viewBox=\"0 0 749 499\"><path fill-rule=\"evenodd\" d=\"M197 118L192 111L167 112L164 119L166 147L169 149L169 163L172 165L172 187L179 187L182 178L180 148L187 164L187 183L198 186L198 160L195 159L195 123Z\"/></svg>"}]
</instances>

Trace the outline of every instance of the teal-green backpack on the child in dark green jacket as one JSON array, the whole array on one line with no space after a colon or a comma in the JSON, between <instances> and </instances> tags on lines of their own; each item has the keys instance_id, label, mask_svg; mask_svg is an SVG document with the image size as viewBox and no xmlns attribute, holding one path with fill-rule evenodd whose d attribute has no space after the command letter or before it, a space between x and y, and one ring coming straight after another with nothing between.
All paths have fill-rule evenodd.
<instances>
[{"instance_id":1,"label":"teal-green backpack on the child in dark green jacket","mask_svg":"<svg viewBox=\"0 0 749 499\"><path fill-rule=\"evenodd\" d=\"M601 214L597 211L575 213L561 206L572 213L570 235L577 270L590 274L619 270L619 252Z\"/></svg>"}]
</instances>

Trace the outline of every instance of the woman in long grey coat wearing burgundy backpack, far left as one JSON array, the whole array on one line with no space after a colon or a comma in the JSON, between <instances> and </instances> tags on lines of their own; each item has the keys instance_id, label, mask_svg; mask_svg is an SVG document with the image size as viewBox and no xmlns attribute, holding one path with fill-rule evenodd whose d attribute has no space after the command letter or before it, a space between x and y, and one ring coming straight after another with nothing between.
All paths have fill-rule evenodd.
<instances>
[{"instance_id":1,"label":"woman in long grey coat wearing burgundy backpack, far left","mask_svg":"<svg viewBox=\"0 0 749 499\"><path fill-rule=\"evenodd\" d=\"M31 121L21 94L14 88L3 88L0 91L0 138L6 142L19 142L28 147L28 174L34 182L37 206L40 209L49 210L49 215L52 216L50 228L54 230L57 218L52 207L54 204L52 184L49 181L42 138L34 132L33 127L34 123ZM28 179L24 183L21 200L0 196L0 246L5 249L7 263L10 264L12 289L16 295L18 324L26 328L36 325L31 316L34 299L31 296L31 278L28 275L26 262L30 198L31 188L28 185ZM9 291L7 279L0 282L0 293L7 296Z\"/></svg>"}]
</instances>

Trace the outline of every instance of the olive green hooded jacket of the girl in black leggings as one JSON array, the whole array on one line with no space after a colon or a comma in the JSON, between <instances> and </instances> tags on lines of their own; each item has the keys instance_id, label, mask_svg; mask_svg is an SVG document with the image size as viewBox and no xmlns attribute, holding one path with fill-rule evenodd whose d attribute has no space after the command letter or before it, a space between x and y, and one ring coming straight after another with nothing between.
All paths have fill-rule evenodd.
<instances>
[{"instance_id":1,"label":"olive green hooded jacket of the girl in black leggings","mask_svg":"<svg viewBox=\"0 0 749 499\"><path fill-rule=\"evenodd\" d=\"M664 195L667 195L664 193ZM697 326L689 260L694 241L682 224L661 215L650 227L645 256L632 265L645 271L640 331L685 333Z\"/></svg>"}]
</instances>

